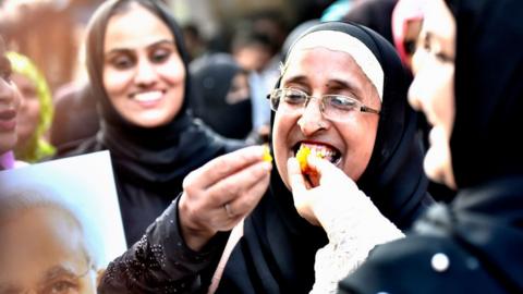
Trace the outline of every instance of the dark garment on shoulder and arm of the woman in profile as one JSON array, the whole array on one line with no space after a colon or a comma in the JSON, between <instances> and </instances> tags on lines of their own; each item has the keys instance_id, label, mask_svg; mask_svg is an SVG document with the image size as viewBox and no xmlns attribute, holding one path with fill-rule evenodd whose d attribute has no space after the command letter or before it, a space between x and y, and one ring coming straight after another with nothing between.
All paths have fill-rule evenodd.
<instances>
[{"instance_id":1,"label":"dark garment on shoulder and arm of the woman in profile","mask_svg":"<svg viewBox=\"0 0 523 294\"><path fill-rule=\"evenodd\" d=\"M523 176L462 191L429 209L417 234L377 246L340 293L522 293L522 197Z\"/></svg>"}]
</instances>

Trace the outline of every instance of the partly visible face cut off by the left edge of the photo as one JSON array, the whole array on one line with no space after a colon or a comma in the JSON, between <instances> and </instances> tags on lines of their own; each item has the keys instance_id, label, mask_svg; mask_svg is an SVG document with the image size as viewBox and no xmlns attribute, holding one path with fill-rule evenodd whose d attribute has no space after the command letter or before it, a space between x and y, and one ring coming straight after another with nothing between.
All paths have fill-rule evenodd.
<instances>
[{"instance_id":1,"label":"partly visible face cut off by the left edge of the photo","mask_svg":"<svg viewBox=\"0 0 523 294\"><path fill-rule=\"evenodd\" d=\"M21 97L11 79L11 63L0 44L0 155L14 148L17 140L16 114Z\"/></svg>"}]
</instances>

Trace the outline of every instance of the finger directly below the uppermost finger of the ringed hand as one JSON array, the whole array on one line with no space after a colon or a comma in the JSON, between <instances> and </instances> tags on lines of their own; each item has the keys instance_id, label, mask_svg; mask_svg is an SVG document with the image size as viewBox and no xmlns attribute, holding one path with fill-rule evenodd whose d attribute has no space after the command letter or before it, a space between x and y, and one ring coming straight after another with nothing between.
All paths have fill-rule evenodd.
<instances>
[{"instance_id":1,"label":"finger directly below the uppermost finger of the ringed hand","mask_svg":"<svg viewBox=\"0 0 523 294\"><path fill-rule=\"evenodd\" d=\"M242 192L247 191L269 174L271 169L271 163L260 161L222 179L207 188L206 193L211 197L209 199L212 203L211 205L218 206L233 201L241 196Z\"/></svg>"}]
</instances>

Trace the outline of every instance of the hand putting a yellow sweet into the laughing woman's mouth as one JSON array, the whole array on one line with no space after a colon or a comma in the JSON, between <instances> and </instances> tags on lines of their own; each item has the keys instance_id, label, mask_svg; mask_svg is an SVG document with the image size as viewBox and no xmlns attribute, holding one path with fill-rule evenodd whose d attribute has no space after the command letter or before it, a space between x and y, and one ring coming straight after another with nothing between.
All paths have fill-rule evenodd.
<instances>
[{"instance_id":1,"label":"hand putting a yellow sweet into the laughing woman's mouth","mask_svg":"<svg viewBox=\"0 0 523 294\"><path fill-rule=\"evenodd\" d=\"M314 187L303 176L296 158L288 160L294 206L302 218L327 231L327 220L336 213L346 212L352 195L360 197L361 192L351 177L328 160L309 155L307 162L319 177L319 185Z\"/></svg>"}]
</instances>

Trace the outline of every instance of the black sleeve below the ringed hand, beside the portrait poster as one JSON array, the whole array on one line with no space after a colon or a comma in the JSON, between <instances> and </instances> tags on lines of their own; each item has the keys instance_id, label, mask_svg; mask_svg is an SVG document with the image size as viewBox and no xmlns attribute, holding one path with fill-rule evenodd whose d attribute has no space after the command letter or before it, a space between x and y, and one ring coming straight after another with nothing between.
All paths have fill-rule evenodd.
<instances>
[{"instance_id":1,"label":"black sleeve below the ringed hand, beside the portrait poster","mask_svg":"<svg viewBox=\"0 0 523 294\"><path fill-rule=\"evenodd\" d=\"M178 197L139 242L109 264L98 293L205 293L229 233L218 233L200 252L180 231Z\"/></svg>"}]
</instances>

